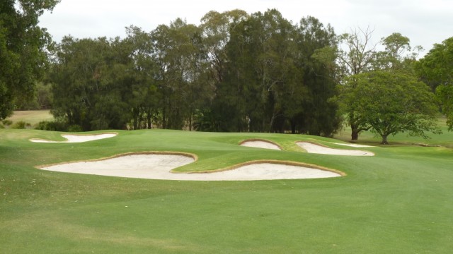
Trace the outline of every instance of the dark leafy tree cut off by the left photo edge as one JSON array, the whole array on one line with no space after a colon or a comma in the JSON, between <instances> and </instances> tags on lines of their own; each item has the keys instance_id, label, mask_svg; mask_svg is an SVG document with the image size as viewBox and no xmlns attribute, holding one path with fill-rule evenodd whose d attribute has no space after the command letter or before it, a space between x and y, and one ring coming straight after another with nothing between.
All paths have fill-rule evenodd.
<instances>
[{"instance_id":1,"label":"dark leafy tree cut off by the left photo edge","mask_svg":"<svg viewBox=\"0 0 453 254\"><path fill-rule=\"evenodd\" d=\"M0 2L0 119L11 115L19 97L33 97L52 42L38 18L59 0Z\"/></svg>"}]
</instances>

